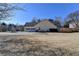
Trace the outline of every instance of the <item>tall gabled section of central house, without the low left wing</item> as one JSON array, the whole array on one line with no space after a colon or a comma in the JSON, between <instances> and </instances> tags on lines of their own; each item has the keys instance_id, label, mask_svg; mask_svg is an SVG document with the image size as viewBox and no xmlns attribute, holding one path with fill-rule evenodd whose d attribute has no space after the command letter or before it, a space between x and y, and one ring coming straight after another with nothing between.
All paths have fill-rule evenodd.
<instances>
[{"instance_id":1,"label":"tall gabled section of central house, without the low left wing","mask_svg":"<svg viewBox=\"0 0 79 59\"><path fill-rule=\"evenodd\" d=\"M34 27L36 28L36 30L40 31L53 31L57 29L57 26L51 23L49 20L43 20Z\"/></svg>"}]
</instances>

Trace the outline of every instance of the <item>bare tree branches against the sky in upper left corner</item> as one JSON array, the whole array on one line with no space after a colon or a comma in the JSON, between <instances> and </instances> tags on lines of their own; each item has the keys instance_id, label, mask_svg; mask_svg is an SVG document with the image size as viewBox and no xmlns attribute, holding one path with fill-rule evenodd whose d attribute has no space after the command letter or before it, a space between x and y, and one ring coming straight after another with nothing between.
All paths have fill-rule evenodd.
<instances>
[{"instance_id":1,"label":"bare tree branches against the sky in upper left corner","mask_svg":"<svg viewBox=\"0 0 79 59\"><path fill-rule=\"evenodd\" d=\"M12 16L13 10L20 10L15 4L0 3L0 20L8 20Z\"/></svg>"}]
</instances>

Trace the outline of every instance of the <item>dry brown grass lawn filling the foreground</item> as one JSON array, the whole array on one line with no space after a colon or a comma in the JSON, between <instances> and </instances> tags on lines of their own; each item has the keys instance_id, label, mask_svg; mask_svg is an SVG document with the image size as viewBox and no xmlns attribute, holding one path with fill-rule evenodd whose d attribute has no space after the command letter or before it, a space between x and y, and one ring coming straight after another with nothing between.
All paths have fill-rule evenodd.
<instances>
[{"instance_id":1,"label":"dry brown grass lawn filling the foreground","mask_svg":"<svg viewBox=\"0 0 79 59\"><path fill-rule=\"evenodd\" d=\"M79 56L79 33L7 36L0 41L0 55Z\"/></svg>"}]
</instances>

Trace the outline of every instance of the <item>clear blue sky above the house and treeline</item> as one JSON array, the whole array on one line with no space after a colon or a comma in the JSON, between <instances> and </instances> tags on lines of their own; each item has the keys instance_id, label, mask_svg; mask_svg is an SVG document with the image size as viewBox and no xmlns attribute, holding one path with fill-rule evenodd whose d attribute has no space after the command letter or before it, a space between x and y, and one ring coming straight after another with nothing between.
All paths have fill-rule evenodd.
<instances>
[{"instance_id":1,"label":"clear blue sky above the house and treeline","mask_svg":"<svg viewBox=\"0 0 79 59\"><path fill-rule=\"evenodd\" d=\"M10 20L2 21L7 24L25 24L30 22L33 17L38 19L55 19L61 17L61 21L71 12L79 10L78 3L17 3L17 6L24 10L16 10Z\"/></svg>"}]
</instances>

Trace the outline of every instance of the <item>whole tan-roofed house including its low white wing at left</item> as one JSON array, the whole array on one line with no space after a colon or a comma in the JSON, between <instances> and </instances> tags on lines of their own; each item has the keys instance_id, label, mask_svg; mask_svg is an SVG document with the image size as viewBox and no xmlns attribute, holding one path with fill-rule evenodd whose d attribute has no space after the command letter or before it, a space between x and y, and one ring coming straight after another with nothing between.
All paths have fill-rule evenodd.
<instances>
[{"instance_id":1,"label":"whole tan-roofed house including its low white wing at left","mask_svg":"<svg viewBox=\"0 0 79 59\"><path fill-rule=\"evenodd\" d=\"M49 20L43 20L35 26L25 27L25 31L57 31L57 26Z\"/></svg>"}]
</instances>

